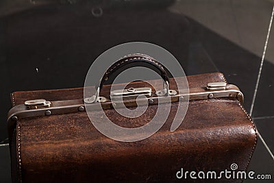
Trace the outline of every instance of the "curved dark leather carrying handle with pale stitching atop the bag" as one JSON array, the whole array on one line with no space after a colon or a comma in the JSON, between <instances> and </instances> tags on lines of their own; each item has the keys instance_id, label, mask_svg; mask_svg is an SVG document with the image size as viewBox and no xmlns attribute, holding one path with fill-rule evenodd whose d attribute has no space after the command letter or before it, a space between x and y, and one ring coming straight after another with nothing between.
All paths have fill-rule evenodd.
<instances>
[{"instance_id":1,"label":"curved dark leather carrying handle with pale stitching atop the bag","mask_svg":"<svg viewBox=\"0 0 274 183\"><path fill-rule=\"evenodd\" d=\"M164 80L164 83L169 83L169 76L167 75L166 71L164 70L164 66L160 64L157 60L152 58L151 56L147 56L140 53L134 53L128 56L125 56L112 64L108 68L107 71L105 71L105 74L103 75L99 88L101 89L105 82L110 80L110 75L119 75L122 71L125 71L125 69L128 69L129 67L133 66L143 66L147 67L149 69L152 69L156 73L158 73L162 79ZM115 78L114 77L114 78Z\"/></svg>"}]
</instances>

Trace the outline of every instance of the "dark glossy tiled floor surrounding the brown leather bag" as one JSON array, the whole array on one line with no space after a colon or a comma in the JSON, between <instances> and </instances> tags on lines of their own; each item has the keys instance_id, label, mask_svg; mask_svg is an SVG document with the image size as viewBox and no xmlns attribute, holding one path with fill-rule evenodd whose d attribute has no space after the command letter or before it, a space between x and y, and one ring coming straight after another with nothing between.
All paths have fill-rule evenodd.
<instances>
[{"instance_id":1,"label":"dark glossy tiled floor surrounding the brown leather bag","mask_svg":"<svg viewBox=\"0 0 274 183\"><path fill-rule=\"evenodd\" d=\"M271 174L272 180L264 182L274 182L273 25L262 60L272 1L71 2L75 3L0 3L0 182L10 182L5 140L10 93L82 87L90 60L131 41L168 49L186 75L220 71L239 86L244 107L260 132L249 170ZM93 7L102 7L103 14L92 14ZM143 26L134 27L136 23Z\"/></svg>"}]
</instances>

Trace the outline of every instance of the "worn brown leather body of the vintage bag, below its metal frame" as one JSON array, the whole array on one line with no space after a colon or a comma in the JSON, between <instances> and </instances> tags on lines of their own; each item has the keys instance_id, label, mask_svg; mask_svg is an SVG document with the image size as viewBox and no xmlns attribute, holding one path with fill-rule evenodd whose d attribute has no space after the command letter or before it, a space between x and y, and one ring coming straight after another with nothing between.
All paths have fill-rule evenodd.
<instances>
[{"instance_id":1,"label":"worn brown leather body of the vintage bag, below its metal frame","mask_svg":"<svg viewBox=\"0 0 274 183\"><path fill-rule=\"evenodd\" d=\"M221 73L188 76L190 87L225 81ZM172 86L172 84L171 84ZM108 87L105 87L108 89ZM16 92L14 105L26 99L79 99L82 88ZM32 117L16 125L18 182L182 182L176 173L225 171L238 164L245 171L256 146L256 128L236 99L190 101L182 125L170 126L177 109L153 136L134 143L103 136L90 123L86 112ZM105 110L121 126L148 123L157 105L145 114L126 119ZM92 120L100 120L92 112ZM188 182L241 182L242 180L190 180ZM14 181L15 182L15 181Z\"/></svg>"}]
</instances>

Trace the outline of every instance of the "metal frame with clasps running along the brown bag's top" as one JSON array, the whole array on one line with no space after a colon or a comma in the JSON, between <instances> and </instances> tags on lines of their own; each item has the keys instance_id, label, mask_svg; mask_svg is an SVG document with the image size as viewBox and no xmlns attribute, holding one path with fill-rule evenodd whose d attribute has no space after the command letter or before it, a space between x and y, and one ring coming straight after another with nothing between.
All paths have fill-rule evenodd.
<instances>
[{"instance_id":1,"label":"metal frame with clasps running along the brown bag's top","mask_svg":"<svg viewBox=\"0 0 274 183\"><path fill-rule=\"evenodd\" d=\"M88 104L90 110L101 110L112 108L112 106L123 106L119 102L123 102L126 107L136 106L136 97L145 95L147 98L140 99L144 103L159 103L158 99L168 99L167 101L179 102L186 100L199 100L199 99L217 99L223 97L236 97L240 103L243 102L244 96L240 92L240 89L233 85L225 82L208 83L206 87L189 88L188 90L169 90L169 96L159 96L157 93L152 94L152 89L149 87L143 88L127 88L123 90L114 90L110 93L111 99L105 97L99 97L99 102L95 102L95 97L84 99L74 99L65 101L46 101L45 99L35 99L25 101L25 105L14 106L8 113L8 125L13 127L18 119L26 117L38 117L38 116L49 116L51 114L66 114L71 112L82 112L86 111L84 103ZM95 96L95 95L93 95ZM112 103L111 100L123 99L122 101L115 101ZM169 97L171 100L169 100ZM132 99L133 98L133 99ZM89 101L90 100L90 101ZM145 101L146 100L146 101ZM165 100L163 100L165 102Z\"/></svg>"}]
</instances>

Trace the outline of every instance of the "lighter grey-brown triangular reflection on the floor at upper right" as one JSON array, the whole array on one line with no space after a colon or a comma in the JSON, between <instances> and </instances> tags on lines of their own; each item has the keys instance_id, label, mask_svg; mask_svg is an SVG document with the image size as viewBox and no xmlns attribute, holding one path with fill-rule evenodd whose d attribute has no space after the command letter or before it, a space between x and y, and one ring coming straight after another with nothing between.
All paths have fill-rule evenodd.
<instances>
[{"instance_id":1,"label":"lighter grey-brown triangular reflection on the floor at upper right","mask_svg":"<svg viewBox=\"0 0 274 183\"><path fill-rule=\"evenodd\" d=\"M179 0L169 10L201 23L236 45L261 57L274 2L262 0ZM269 42L274 49L274 41ZM270 53L271 52L271 53ZM274 52L266 60L274 63Z\"/></svg>"}]
</instances>

